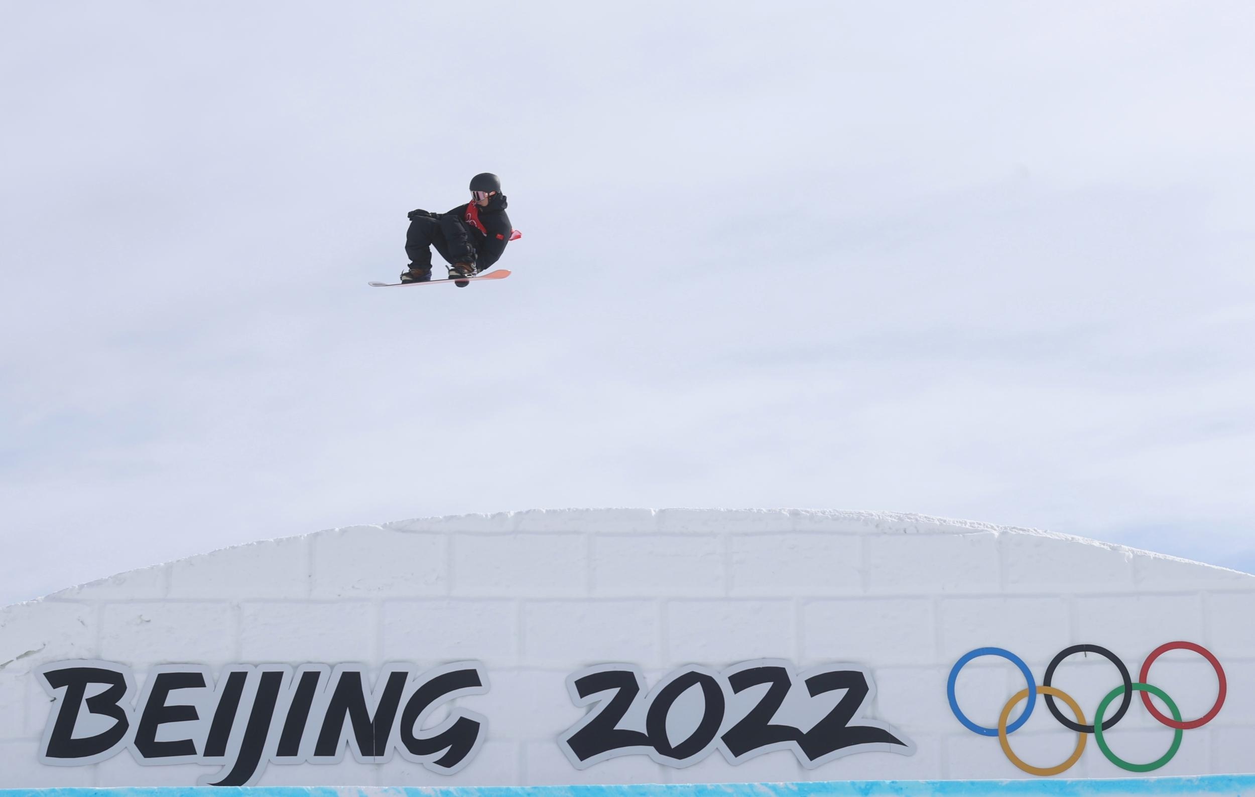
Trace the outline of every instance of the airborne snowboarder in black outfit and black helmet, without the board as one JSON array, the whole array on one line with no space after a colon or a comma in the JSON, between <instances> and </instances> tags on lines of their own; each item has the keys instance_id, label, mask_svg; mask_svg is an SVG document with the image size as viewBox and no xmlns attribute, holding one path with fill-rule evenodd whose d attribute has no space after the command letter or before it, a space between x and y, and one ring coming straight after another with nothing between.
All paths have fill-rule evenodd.
<instances>
[{"instance_id":1,"label":"airborne snowboarder in black outfit and black helmet, without the board","mask_svg":"<svg viewBox=\"0 0 1255 797\"><path fill-rule=\"evenodd\" d=\"M471 202L448 213L409 212L405 254L409 268L402 282L427 282L432 278L432 247L449 262L449 279L473 277L501 258L513 228L506 216L506 195L501 179L484 172L471 178ZM469 284L458 279L459 288Z\"/></svg>"}]
</instances>

